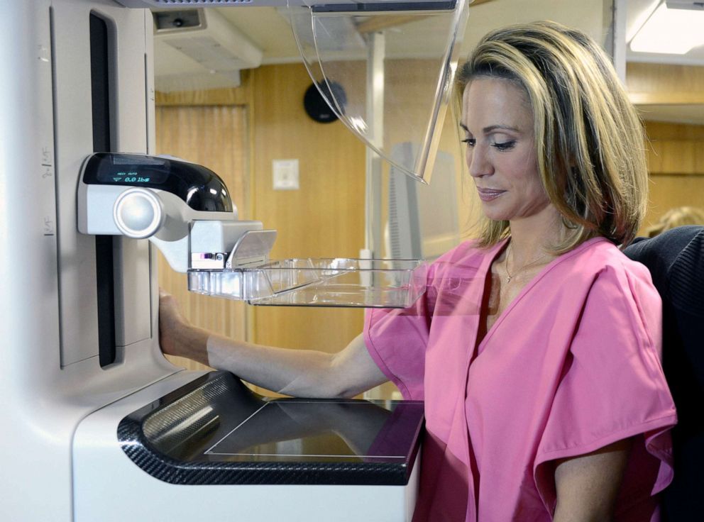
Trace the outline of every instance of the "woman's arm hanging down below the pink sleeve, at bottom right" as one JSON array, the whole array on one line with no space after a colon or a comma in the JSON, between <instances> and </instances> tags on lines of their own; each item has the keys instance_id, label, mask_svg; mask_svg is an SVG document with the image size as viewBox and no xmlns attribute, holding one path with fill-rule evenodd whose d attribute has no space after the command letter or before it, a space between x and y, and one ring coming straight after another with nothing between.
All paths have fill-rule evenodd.
<instances>
[{"instance_id":1,"label":"woman's arm hanging down below the pink sleeve, at bottom right","mask_svg":"<svg viewBox=\"0 0 704 522\"><path fill-rule=\"evenodd\" d=\"M626 470L631 440L556 461L554 522L607 522Z\"/></svg>"}]
</instances>

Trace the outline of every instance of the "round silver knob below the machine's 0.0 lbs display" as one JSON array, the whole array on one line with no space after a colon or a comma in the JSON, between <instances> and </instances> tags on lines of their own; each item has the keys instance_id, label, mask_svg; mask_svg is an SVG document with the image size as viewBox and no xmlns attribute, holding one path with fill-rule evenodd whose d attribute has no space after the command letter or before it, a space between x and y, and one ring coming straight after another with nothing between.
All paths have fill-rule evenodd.
<instances>
[{"instance_id":1,"label":"round silver knob below the machine's 0.0 lbs display","mask_svg":"<svg viewBox=\"0 0 704 522\"><path fill-rule=\"evenodd\" d=\"M159 196L141 187L132 187L118 196L113 206L115 225L128 238L154 235L163 225L165 213Z\"/></svg>"}]
</instances>

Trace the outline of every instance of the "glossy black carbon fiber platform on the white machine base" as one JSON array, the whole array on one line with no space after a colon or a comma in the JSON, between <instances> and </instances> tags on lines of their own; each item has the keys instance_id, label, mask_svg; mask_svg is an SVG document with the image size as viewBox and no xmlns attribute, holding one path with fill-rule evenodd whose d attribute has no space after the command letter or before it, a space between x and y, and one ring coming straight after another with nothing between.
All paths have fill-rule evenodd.
<instances>
[{"instance_id":1,"label":"glossy black carbon fiber platform on the white machine base","mask_svg":"<svg viewBox=\"0 0 704 522\"><path fill-rule=\"evenodd\" d=\"M405 485L419 401L269 399L211 372L123 418L118 439L171 484Z\"/></svg>"}]
</instances>

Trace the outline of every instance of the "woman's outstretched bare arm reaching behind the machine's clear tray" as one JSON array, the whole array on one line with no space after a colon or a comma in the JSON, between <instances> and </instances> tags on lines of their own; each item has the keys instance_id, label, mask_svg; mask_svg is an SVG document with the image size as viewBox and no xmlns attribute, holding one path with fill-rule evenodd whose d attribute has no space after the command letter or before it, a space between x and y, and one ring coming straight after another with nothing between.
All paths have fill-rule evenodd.
<instances>
[{"instance_id":1,"label":"woman's outstretched bare arm reaching behind the machine's clear tray","mask_svg":"<svg viewBox=\"0 0 704 522\"><path fill-rule=\"evenodd\" d=\"M159 299L159 341L168 355L232 372L285 395L349 397L387 381L362 335L335 354L244 343L192 326L182 317L176 300L165 293Z\"/></svg>"}]
</instances>

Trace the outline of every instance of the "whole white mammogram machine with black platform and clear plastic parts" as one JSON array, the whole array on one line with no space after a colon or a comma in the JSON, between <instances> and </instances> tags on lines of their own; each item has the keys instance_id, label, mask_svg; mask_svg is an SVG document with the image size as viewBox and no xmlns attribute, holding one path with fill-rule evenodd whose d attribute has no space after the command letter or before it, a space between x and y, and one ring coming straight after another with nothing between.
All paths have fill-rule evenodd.
<instances>
[{"instance_id":1,"label":"whole white mammogram machine with black platform and clear plastic parts","mask_svg":"<svg viewBox=\"0 0 704 522\"><path fill-rule=\"evenodd\" d=\"M154 21L145 8L239 3L2 1L4 521L411 516L422 404L271 400L231 374L174 367L159 350L157 249L188 273L190 289L257 304L407 306L422 293L421 263L269 260L275 231L239 220L216 173L153 154ZM334 72L345 87L345 96L323 89L326 101L381 153L393 144L375 134L371 94L353 84L360 75L346 72L370 56L370 39L353 29L377 15L449 20L423 111L430 123L413 126L419 135L406 139L417 155L398 165L423 178L463 4L260 5L289 10L314 80L324 85Z\"/></svg>"}]
</instances>

